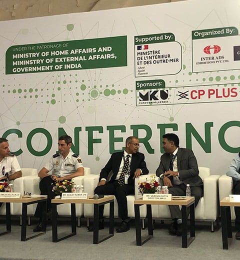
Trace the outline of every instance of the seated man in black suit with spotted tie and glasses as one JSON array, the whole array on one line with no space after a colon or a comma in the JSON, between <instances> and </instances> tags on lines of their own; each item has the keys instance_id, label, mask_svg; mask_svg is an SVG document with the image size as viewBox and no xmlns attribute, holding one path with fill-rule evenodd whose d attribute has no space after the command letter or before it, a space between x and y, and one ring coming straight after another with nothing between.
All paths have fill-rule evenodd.
<instances>
[{"instance_id":1,"label":"seated man in black suit with spotted tie and glasses","mask_svg":"<svg viewBox=\"0 0 240 260\"><path fill-rule=\"evenodd\" d=\"M147 174L148 169L144 161L144 154L138 152L139 140L129 136L125 141L125 150L111 155L106 165L101 169L99 182L94 190L95 194L115 195L118 204L118 215L121 226L116 232L129 230L126 196L134 194L134 178ZM124 173L123 173L124 172ZM99 208L99 229L103 229L103 206ZM92 231L92 226L88 227Z\"/></svg>"}]
</instances>

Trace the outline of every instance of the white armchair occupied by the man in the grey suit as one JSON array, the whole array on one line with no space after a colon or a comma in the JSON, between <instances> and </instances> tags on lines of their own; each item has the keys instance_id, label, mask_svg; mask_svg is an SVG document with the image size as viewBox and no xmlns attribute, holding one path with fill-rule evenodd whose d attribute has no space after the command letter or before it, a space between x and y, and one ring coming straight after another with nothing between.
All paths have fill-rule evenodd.
<instances>
[{"instance_id":1,"label":"white armchair occupied by the man in the grey suit","mask_svg":"<svg viewBox=\"0 0 240 260\"><path fill-rule=\"evenodd\" d=\"M214 231L214 222L218 221L219 202L218 202L218 178L219 175L210 175L207 167L198 167L199 176L203 180L204 193L195 207L195 220L209 221L211 232ZM162 220L170 218L170 211L167 205L152 207L152 218Z\"/></svg>"}]
</instances>

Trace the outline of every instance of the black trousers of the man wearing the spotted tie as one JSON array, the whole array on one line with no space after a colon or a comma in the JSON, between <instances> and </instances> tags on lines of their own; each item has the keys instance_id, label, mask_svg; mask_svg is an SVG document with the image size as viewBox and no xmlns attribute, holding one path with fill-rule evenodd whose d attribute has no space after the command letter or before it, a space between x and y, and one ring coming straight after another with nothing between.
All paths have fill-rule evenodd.
<instances>
[{"instance_id":1,"label":"black trousers of the man wearing the spotted tie","mask_svg":"<svg viewBox=\"0 0 240 260\"><path fill-rule=\"evenodd\" d=\"M127 202L126 196L134 194L134 185L124 184L120 186L117 180L107 182L105 185L97 186L94 190L95 194L115 195L118 204L118 216L125 220L127 219ZM104 205L99 206L99 217L103 216Z\"/></svg>"}]
</instances>

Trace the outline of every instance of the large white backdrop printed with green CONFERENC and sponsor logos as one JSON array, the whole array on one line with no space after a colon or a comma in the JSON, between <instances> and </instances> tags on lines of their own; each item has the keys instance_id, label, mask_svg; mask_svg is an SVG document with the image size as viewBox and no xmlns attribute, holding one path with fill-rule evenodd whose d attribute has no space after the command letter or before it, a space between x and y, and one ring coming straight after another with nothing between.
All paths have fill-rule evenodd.
<instances>
[{"instance_id":1,"label":"large white backdrop printed with green CONFERENC and sponsor logos","mask_svg":"<svg viewBox=\"0 0 240 260\"><path fill-rule=\"evenodd\" d=\"M225 173L240 151L239 4L193 0L0 22L0 135L22 167L39 169L64 129L84 166L98 173L137 134L153 173L161 135L175 132L200 166ZM88 46L109 48L82 53ZM46 53L57 48L64 53ZM109 53L114 58L93 56ZM88 60L68 62L77 69L42 67L45 58L55 64L66 56ZM144 82L137 88L136 81Z\"/></svg>"}]
</instances>

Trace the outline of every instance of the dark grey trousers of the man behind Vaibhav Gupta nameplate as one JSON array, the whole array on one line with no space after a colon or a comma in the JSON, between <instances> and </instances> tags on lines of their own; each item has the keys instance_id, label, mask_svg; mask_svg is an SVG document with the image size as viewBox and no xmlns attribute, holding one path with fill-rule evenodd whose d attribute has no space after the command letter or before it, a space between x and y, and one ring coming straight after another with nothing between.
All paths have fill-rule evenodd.
<instances>
[{"instance_id":1,"label":"dark grey trousers of the man behind Vaibhav Gupta nameplate","mask_svg":"<svg viewBox=\"0 0 240 260\"><path fill-rule=\"evenodd\" d=\"M202 186L193 186L190 188L191 188L191 196L194 196L195 206L196 206L200 197L203 195L203 185ZM181 183L179 185L173 184L173 187L168 187L168 190L169 190L169 193L172 194L172 196L185 196L186 195L186 185L184 183ZM172 219L181 218L181 211L179 209L179 206L170 205L169 210L170 210ZM188 214L189 214L189 212L188 212Z\"/></svg>"}]
</instances>

